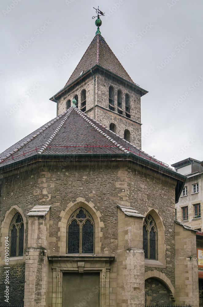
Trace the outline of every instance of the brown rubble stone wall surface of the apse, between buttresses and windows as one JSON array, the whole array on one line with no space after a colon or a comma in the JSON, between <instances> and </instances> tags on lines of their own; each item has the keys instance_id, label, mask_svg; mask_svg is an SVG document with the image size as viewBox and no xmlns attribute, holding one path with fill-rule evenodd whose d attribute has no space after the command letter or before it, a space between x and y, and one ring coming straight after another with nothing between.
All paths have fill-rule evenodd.
<instances>
[{"instance_id":1,"label":"brown rubble stone wall surface of the apse, between buttresses and windows","mask_svg":"<svg viewBox=\"0 0 203 307\"><path fill-rule=\"evenodd\" d=\"M132 206L142 214L147 214L153 208L162 217L165 227L165 244L167 246L165 251L166 266L156 267L156 265L148 264L146 271L156 268L158 272L164 273L174 285L175 250L173 243L173 218L175 181L170 181L169 178L164 176L157 176L155 172L147 171L143 167L137 167L130 162L111 161L109 163L108 161L92 161L90 165L88 162L69 164L68 162L61 161L60 164L56 164L53 161L48 165L45 164L44 166L39 164L38 167L33 169L27 167L23 172L13 171L10 173L10 176L5 178L1 198L1 222L7 210L13 205L19 206L24 216L36 204L51 205L50 230L47 240L49 241L49 255L60 255L59 243L61 235L66 235L65 233L59 233L60 214L66 210L67 204L71 201L74 202L76 198L83 197L87 203L92 202L94 209L101 214L100 220L103 222L104 227L101 228L103 234L99 238L100 253L102 255L108 253L108 255L114 256L118 250L118 215L116 205ZM31 225L28 227L28 222L26 223L26 248L28 247L28 228L30 231L32 229L33 231L35 230ZM42 243L40 244L42 245ZM37 245L34 247L39 248ZM134 246L133 248L142 247ZM30 253L31 251L28 252ZM28 254L26 257L31 256ZM33 257L37 257L34 263L39 263L41 266L39 251ZM27 264L29 264L28 260L31 259L26 260ZM111 265L110 270L110 306L116 306L116 263ZM44 271L44 274L47 273ZM34 271L32 276L36 276Z\"/></svg>"}]
</instances>

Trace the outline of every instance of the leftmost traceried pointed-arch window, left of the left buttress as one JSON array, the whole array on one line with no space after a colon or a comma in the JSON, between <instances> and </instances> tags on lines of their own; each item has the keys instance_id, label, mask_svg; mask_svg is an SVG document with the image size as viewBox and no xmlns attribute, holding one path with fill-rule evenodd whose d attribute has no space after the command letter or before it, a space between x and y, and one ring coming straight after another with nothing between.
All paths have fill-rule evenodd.
<instances>
[{"instance_id":1,"label":"leftmost traceried pointed-arch window, left of the left buttress","mask_svg":"<svg viewBox=\"0 0 203 307\"><path fill-rule=\"evenodd\" d=\"M24 223L20 213L13 217L9 228L10 257L23 256Z\"/></svg>"}]
</instances>

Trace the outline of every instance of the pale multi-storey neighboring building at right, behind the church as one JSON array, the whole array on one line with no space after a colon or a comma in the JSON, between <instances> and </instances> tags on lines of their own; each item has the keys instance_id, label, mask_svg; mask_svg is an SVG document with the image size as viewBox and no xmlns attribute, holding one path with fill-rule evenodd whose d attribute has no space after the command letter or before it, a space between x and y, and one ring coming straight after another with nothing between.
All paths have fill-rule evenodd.
<instances>
[{"instance_id":1,"label":"pale multi-storey neighboring building at right, behind the church","mask_svg":"<svg viewBox=\"0 0 203 307\"><path fill-rule=\"evenodd\" d=\"M197 256L199 275L199 294L202 305L203 298L203 162L187 158L172 164L175 170L187 176L181 197L176 204L176 219L186 226L197 229Z\"/></svg>"}]
</instances>

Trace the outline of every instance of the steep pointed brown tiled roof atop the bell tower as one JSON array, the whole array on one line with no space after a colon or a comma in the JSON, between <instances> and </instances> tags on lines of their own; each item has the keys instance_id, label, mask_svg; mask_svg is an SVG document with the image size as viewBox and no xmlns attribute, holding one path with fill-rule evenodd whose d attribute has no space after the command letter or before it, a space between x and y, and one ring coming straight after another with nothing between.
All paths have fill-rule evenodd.
<instances>
[{"instance_id":1,"label":"steep pointed brown tiled roof atop the bell tower","mask_svg":"<svg viewBox=\"0 0 203 307\"><path fill-rule=\"evenodd\" d=\"M106 43L105 39L100 34L97 34L93 38L92 42L82 56L82 59L80 60L79 64L75 68L65 86L71 84L73 81L79 78L82 71L85 73L86 71L93 68L96 64L135 84L113 51L110 49L109 45Z\"/></svg>"}]
</instances>

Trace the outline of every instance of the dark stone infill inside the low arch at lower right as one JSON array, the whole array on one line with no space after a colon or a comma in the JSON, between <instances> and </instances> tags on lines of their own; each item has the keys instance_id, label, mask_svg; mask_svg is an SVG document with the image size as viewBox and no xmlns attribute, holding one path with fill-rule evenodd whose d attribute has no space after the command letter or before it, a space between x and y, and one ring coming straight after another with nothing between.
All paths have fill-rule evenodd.
<instances>
[{"instance_id":1,"label":"dark stone infill inside the low arch at lower right","mask_svg":"<svg viewBox=\"0 0 203 307\"><path fill-rule=\"evenodd\" d=\"M169 291L160 280L149 278L145 281L145 304L171 304Z\"/></svg>"}]
</instances>

